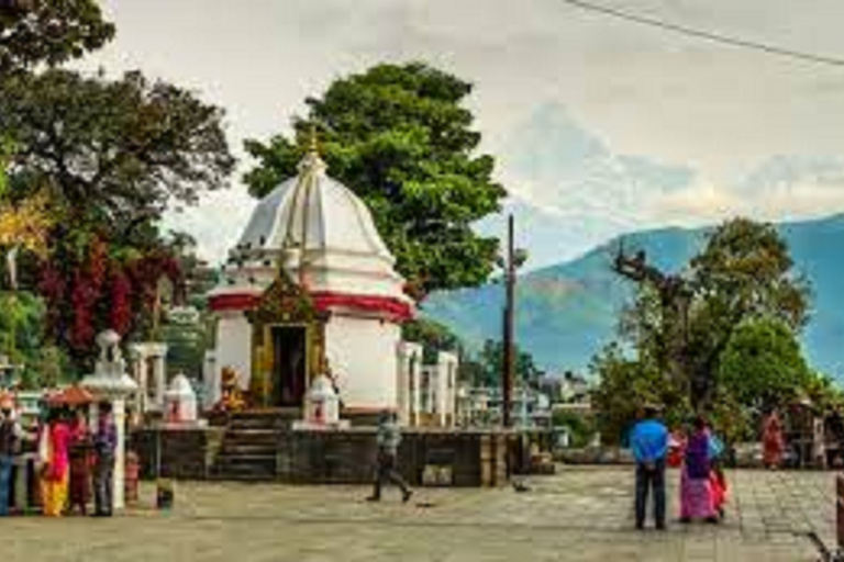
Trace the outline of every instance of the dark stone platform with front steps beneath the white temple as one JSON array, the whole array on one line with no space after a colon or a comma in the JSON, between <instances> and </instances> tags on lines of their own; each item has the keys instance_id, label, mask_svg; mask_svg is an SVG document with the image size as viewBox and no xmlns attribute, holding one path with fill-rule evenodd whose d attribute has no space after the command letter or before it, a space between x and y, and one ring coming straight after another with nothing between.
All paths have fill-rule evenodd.
<instances>
[{"instance_id":1,"label":"dark stone platform with front steps beneath the white temple","mask_svg":"<svg viewBox=\"0 0 844 562\"><path fill-rule=\"evenodd\" d=\"M224 426L155 427L131 436L141 477L362 484L373 479L376 428L297 430L270 413L231 416ZM406 429L399 470L412 484L500 486L521 468L512 431ZM157 459L160 459L160 470Z\"/></svg>"}]
</instances>

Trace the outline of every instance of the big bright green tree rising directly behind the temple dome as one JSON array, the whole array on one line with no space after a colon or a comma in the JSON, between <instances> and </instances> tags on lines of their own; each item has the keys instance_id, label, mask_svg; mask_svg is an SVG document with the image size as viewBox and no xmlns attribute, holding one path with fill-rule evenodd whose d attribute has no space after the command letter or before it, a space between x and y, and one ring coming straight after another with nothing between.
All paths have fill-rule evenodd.
<instances>
[{"instance_id":1,"label":"big bright green tree rising directly behind the temple dome","mask_svg":"<svg viewBox=\"0 0 844 562\"><path fill-rule=\"evenodd\" d=\"M306 100L308 115L293 121L297 138L246 143L258 160L245 177L249 191L264 196L296 175L315 124L331 175L366 201L419 296L480 284L498 240L471 225L500 210L504 190L492 180L492 157L473 155L480 135L462 105L470 92L468 82L423 64L338 79L321 99Z\"/></svg>"}]
</instances>

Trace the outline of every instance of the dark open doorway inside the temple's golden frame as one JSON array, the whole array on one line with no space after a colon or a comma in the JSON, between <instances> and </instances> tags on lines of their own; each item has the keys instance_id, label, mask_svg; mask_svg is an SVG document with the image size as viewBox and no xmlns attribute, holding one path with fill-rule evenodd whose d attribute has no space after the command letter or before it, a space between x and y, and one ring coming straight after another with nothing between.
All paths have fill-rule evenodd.
<instances>
[{"instance_id":1,"label":"dark open doorway inside the temple's golden frame","mask_svg":"<svg viewBox=\"0 0 844 562\"><path fill-rule=\"evenodd\" d=\"M273 326L273 405L300 407L306 386L306 328Z\"/></svg>"}]
</instances>

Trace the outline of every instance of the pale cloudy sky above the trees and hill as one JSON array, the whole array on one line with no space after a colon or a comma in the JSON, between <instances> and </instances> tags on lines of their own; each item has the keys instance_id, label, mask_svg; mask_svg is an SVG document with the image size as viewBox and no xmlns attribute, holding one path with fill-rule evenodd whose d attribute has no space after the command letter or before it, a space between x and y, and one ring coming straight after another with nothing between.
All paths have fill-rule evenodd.
<instances>
[{"instance_id":1,"label":"pale cloudy sky above the trees and hill","mask_svg":"<svg viewBox=\"0 0 844 562\"><path fill-rule=\"evenodd\" d=\"M844 58L841 0L596 0ZM118 36L84 69L147 76L226 111L224 192L170 213L221 260L255 205L244 138L289 132L303 100L381 63L474 83L467 105L533 268L621 233L743 214L844 211L844 67L719 45L560 0L104 0ZM329 170L331 173L331 170ZM497 217L479 225L503 234Z\"/></svg>"}]
</instances>

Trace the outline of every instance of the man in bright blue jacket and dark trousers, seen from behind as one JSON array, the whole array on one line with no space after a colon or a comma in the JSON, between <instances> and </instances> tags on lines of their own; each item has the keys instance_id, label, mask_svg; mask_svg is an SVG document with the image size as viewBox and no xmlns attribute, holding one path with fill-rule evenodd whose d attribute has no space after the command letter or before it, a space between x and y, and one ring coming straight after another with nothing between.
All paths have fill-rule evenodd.
<instances>
[{"instance_id":1,"label":"man in bright blue jacket and dark trousers, seen from behind","mask_svg":"<svg viewBox=\"0 0 844 562\"><path fill-rule=\"evenodd\" d=\"M636 529L645 526L647 495L654 491L654 519L665 529L665 458L668 429L656 418L656 406L645 406L644 418L633 428L631 448L636 460Z\"/></svg>"}]
</instances>

